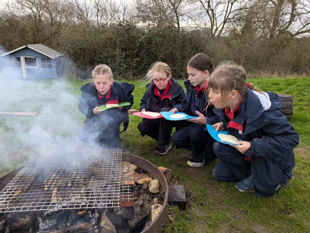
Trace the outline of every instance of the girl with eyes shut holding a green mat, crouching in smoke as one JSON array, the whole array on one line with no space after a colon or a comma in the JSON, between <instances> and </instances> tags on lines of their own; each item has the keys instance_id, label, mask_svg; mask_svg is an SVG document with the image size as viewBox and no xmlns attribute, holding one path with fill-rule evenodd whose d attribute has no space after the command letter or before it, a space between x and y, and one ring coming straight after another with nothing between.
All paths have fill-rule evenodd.
<instances>
[{"instance_id":1,"label":"girl with eyes shut holding a green mat, crouching in smoke","mask_svg":"<svg viewBox=\"0 0 310 233\"><path fill-rule=\"evenodd\" d=\"M128 110L134 103L134 85L113 80L110 67L100 64L92 71L93 81L81 87L82 96L78 103L79 111L86 119L78 137L83 142L98 143L104 147L117 148L120 140L119 125L123 122L126 131L129 123ZM98 105L130 105L108 108L99 111ZM122 131L122 132L123 132Z\"/></svg>"}]
</instances>

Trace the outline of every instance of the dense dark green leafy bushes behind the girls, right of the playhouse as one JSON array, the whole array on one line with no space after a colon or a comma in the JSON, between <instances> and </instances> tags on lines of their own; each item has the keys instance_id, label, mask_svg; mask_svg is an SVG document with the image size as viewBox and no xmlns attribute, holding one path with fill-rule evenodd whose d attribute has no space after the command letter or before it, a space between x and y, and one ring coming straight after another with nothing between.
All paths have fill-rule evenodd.
<instances>
[{"instance_id":1,"label":"dense dark green leafy bushes behind the girls, right of the playhouse","mask_svg":"<svg viewBox=\"0 0 310 233\"><path fill-rule=\"evenodd\" d=\"M188 59L203 51L201 35L195 31L178 31L173 26L164 28L136 27L131 23L108 27L70 28L64 37L61 51L68 54L85 71L100 63L111 67L115 76L124 79L144 77L152 63L167 63L175 78L186 77Z\"/></svg>"}]
</instances>

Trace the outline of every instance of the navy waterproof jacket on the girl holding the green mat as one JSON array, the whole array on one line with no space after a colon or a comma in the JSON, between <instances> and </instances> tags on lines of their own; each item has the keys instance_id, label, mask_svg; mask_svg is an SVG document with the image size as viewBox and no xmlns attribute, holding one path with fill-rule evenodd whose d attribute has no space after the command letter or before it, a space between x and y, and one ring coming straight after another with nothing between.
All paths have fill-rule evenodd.
<instances>
[{"instance_id":1,"label":"navy waterproof jacket on the girl holding the green mat","mask_svg":"<svg viewBox=\"0 0 310 233\"><path fill-rule=\"evenodd\" d=\"M134 103L134 97L131 94L135 88L135 85L113 81L112 91L110 100L118 99L118 102L129 102L130 105L123 106L121 110L122 120L124 123L123 131L127 130L129 118L128 110L131 109L131 106ZM94 114L93 109L98 106L106 103L105 98L99 98L97 89L93 83L85 84L81 87L82 95L80 101L78 102L78 110L86 116L85 122L88 122L97 115ZM122 131L122 132L123 132Z\"/></svg>"}]
</instances>

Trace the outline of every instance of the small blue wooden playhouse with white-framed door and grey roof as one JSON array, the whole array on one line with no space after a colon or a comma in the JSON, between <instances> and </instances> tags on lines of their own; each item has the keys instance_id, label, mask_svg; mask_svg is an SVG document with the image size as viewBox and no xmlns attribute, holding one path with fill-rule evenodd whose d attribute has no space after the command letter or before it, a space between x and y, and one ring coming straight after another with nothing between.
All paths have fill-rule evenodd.
<instances>
[{"instance_id":1,"label":"small blue wooden playhouse with white-framed door and grey roof","mask_svg":"<svg viewBox=\"0 0 310 233\"><path fill-rule=\"evenodd\" d=\"M61 64L63 54L42 44L24 45L1 57L9 77L56 78L64 73Z\"/></svg>"}]
</instances>

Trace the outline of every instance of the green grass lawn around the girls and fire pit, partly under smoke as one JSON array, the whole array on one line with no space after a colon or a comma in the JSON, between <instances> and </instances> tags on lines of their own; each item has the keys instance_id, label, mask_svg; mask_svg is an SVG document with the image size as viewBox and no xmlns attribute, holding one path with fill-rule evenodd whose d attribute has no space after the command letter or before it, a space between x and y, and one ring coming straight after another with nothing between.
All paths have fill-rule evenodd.
<instances>
[{"instance_id":1,"label":"green grass lawn around the girls and fire pit, partly under smoke","mask_svg":"<svg viewBox=\"0 0 310 233\"><path fill-rule=\"evenodd\" d=\"M293 179L275 195L256 199L241 193L234 183L217 182L212 170L218 160L202 168L186 166L191 153L175 147L165 156L153 153L157 142L141 137L141 118L130 115L126 133L121 134L123 150L143 157L156 166L172 169L172 183L183 184L188 194L186 211L170 206L162 232L309 232L310 231L310 79L249 79L265 91L291 94L294 114L290 122L299 133L295 148ZM0 176L29 161L40 150L76 149L76 133L85 117L77 110L81 80L22 80L0 93L0 112L38 112L34 116L0 115ZM145 86L135 84L134 109ZM183 85L183 81L179 81ZM15 84L13 85L15 86ZM184 87L184 85L183 85ZM15 87L16 88L16 87ZM20 92L23 90L23 92ZM27 90L24 93L24 90Z\"/></svg>"}]
</instances>

